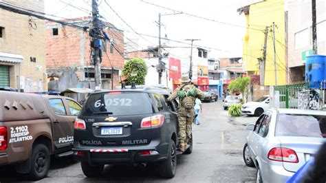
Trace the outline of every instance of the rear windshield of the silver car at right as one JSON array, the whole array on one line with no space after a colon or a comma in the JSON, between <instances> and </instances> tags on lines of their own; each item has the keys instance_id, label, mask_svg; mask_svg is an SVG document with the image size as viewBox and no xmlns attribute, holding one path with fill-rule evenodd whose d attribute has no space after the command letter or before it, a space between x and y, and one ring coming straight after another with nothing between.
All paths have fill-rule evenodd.
<instances>
[{"instance_id":1,"label":"rear windshield of the silver car at right","mask_svg":"<svg viewBox=\"0 0 326 183\"><path fill-rule=\"evenodd\" d=\"M326 137L326 116L279 114L275 136Z\"/></svg>"}]
</instances>

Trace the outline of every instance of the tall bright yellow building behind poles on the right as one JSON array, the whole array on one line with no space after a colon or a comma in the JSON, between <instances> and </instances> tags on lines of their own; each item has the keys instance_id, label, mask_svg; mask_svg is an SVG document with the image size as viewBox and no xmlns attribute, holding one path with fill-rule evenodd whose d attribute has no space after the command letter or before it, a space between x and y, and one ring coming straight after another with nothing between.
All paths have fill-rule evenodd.
<instances>
[{"instance_id":1,"label":"tall bright yellow building behind poles on the right","mask_svg":"<svg viewBox=\"0 0 326 183\"><path fill-rule=\"evenodd\" d=\"M284 8L284 0L265 0L239 9L247 21L246 35L243 38L243 64L247 67L248 75L259 74L258 58L263 57L264 31L269 26L264 85L275 85L273 22L276 25L276 85L287 83Z\"/></svg>"}]
</instances>

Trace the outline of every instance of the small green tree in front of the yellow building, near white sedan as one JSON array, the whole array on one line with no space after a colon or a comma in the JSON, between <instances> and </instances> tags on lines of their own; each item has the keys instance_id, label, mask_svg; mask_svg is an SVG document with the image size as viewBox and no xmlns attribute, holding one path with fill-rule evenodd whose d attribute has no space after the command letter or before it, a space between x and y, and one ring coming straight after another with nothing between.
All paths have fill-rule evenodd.
<instances>
[{"instance_id":1,"label":"small green tree in front of the yellow building, near white sedan","mask_svg":"<svg viewBox=\"0 0 326 183\"><path fill-rule=\"evenodd\" d=\"M236 80L232 80L228 89L232 93L240 92L242 94L242 103L246 103L246 99L249 93L250 77L240 77Z\"/></svg>"}]
</instances>

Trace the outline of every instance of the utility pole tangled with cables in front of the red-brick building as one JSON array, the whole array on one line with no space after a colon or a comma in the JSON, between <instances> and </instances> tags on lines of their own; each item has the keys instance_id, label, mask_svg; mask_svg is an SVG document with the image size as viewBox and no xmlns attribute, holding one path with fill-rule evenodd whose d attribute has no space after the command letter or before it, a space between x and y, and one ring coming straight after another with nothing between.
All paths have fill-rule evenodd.
<instances>
[{"instance_id":1,"label":"utility pole tangled with cables in front of the red-brick building","mask_svg":"<svg viewBox=\"0 0 326 183\"><path fill-rule=\"evenodd\" d=\"M102 40L100 39L101 28L100 28L100 20L98 14L98 3L96 0L91 1L91 14L93 17L93 26L89 32L91 36L91 56L93 60L94 69L95 69L95 89L101 89L101 72L100 72L100 62L102 61L102 51L100 50L100 46L102 45ZM111 76L112 77L112 76Z\"/></svg>"}]
</instances>

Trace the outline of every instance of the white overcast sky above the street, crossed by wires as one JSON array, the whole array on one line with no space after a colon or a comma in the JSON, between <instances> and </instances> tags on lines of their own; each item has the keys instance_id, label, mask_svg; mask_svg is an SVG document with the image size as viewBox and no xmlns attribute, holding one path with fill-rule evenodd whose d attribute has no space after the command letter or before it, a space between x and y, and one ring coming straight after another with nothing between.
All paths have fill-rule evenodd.
<instances>
[{"instance_id":1,"label":"white overcast sky above the street, crossed by wires","mask_svg":"<svg viewBox=\"0 0 326 183\"><path fill-rule=\"evenodd\" d=\"M158 36L158 14L173 14L170 8L186 14L173 14L162 16L162 36L168 39L184 41L184 39L201 39L195 45L212 47L210 58L226 56L241 56L242 38L246 31L246 19L239 15L238 8L246 6L257 0L99 0L102 17L124 30L124 36L138 39L139 49L147 46L157 46L158 39L135 34L148 34ZM157 6L153 6L149 3ZM129 28L109 6L131 27ZM158 7L162 6L162 7ZM76 18L89 16L91 13L91 0L45 0L45 13L58 17ZM212 21L193 17L204 17ZM187 43L190 43L189 41ZM169 45L179 45L169 41ZM182 44L182 46L188 46ZM208 49L209 50L209 49ZM220 50L220 51L218 51Z\"/></svg>"}]
</instances>

